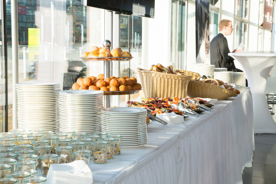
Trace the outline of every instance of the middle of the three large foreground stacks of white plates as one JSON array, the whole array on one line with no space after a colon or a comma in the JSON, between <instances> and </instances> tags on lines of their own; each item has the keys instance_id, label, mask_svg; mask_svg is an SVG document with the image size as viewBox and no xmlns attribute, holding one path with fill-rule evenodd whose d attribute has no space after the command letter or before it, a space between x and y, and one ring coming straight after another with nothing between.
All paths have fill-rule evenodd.
<instances>
[{"instance_id":1,"label":"middle of the three large foreground stacks of white plates","mask_svg":"<svg viewBox=\"0 0 276 184\"><path fill-rule=\"evenodd\" d=\"M65 90L59 92L59 130L74 130L91 135L101 130L103 92Z\"/></svg>"}]
</instances>

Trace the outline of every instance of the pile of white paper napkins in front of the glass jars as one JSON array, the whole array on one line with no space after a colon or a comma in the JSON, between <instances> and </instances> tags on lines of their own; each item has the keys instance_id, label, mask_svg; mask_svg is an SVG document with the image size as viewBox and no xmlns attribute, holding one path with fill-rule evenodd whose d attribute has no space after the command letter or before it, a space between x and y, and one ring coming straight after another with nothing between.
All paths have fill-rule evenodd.
<instances>
[{"instance_id":1,"label":"pile of white paper napkins in front of the glass jars","mask_svg":"<svg viewBox=\"0 0 276 184\"><path fill-rule=\"evenodd\" d=\"M68 164L51 164L46 184L93 183L92 171L84 160Z\"/></svg>"}]
</instances>

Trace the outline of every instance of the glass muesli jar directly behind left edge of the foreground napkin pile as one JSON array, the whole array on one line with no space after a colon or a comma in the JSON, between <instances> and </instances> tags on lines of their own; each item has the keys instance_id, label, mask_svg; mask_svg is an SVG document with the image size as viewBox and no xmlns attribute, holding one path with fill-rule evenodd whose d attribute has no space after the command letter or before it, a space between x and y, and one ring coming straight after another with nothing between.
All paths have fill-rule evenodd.
<instances>
[{"instance_id":1,"label":"glass muesli jar directly behind left edge of the foreground napkin pile","mask_svg":"<svg viewBox=\"0 0 276 184\"><path fill-rule=\"evenodd\" d=\"M51 164L57 164L59 156L57 154L44 154L39 156L41 161L41 175L47 176Z\"/></svg>"}]
</instances>

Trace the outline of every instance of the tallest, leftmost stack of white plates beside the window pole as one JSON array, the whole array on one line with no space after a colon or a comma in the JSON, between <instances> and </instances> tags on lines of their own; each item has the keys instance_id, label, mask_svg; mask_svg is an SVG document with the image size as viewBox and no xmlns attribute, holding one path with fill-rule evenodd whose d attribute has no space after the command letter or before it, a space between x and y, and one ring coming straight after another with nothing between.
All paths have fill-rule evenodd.
<instances>
[{"instance_id":1,"label":"tallest, leftmost stack of white plates beside the window pole","mask_svg":"<svg viewBox=\"0 0 276 184\"><path fill-rule=\"evenodd\" d=\"M59 127L59 91L59 83L16 84L18 128L56 131Z\"/></svg>"}]
</instances>

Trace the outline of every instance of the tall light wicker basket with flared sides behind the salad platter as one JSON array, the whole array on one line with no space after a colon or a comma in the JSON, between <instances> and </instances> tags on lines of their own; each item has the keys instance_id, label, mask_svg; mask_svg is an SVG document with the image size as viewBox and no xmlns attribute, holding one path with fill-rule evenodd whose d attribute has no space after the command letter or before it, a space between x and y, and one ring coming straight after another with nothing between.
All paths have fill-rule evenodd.
<instances>
[{"instance_id":1,"label":"tall light wicker basket with flared sides behind the salad platter","mask_svg":"<svg viewBox=\"0 0 276 184\"><path fill-rule=\"evenodd\" d=\"M138 69L138 81L142 85L140 97L180 97L187 96L187 87L192 76L177 75Z\"/></svg>"}]
</instances>

